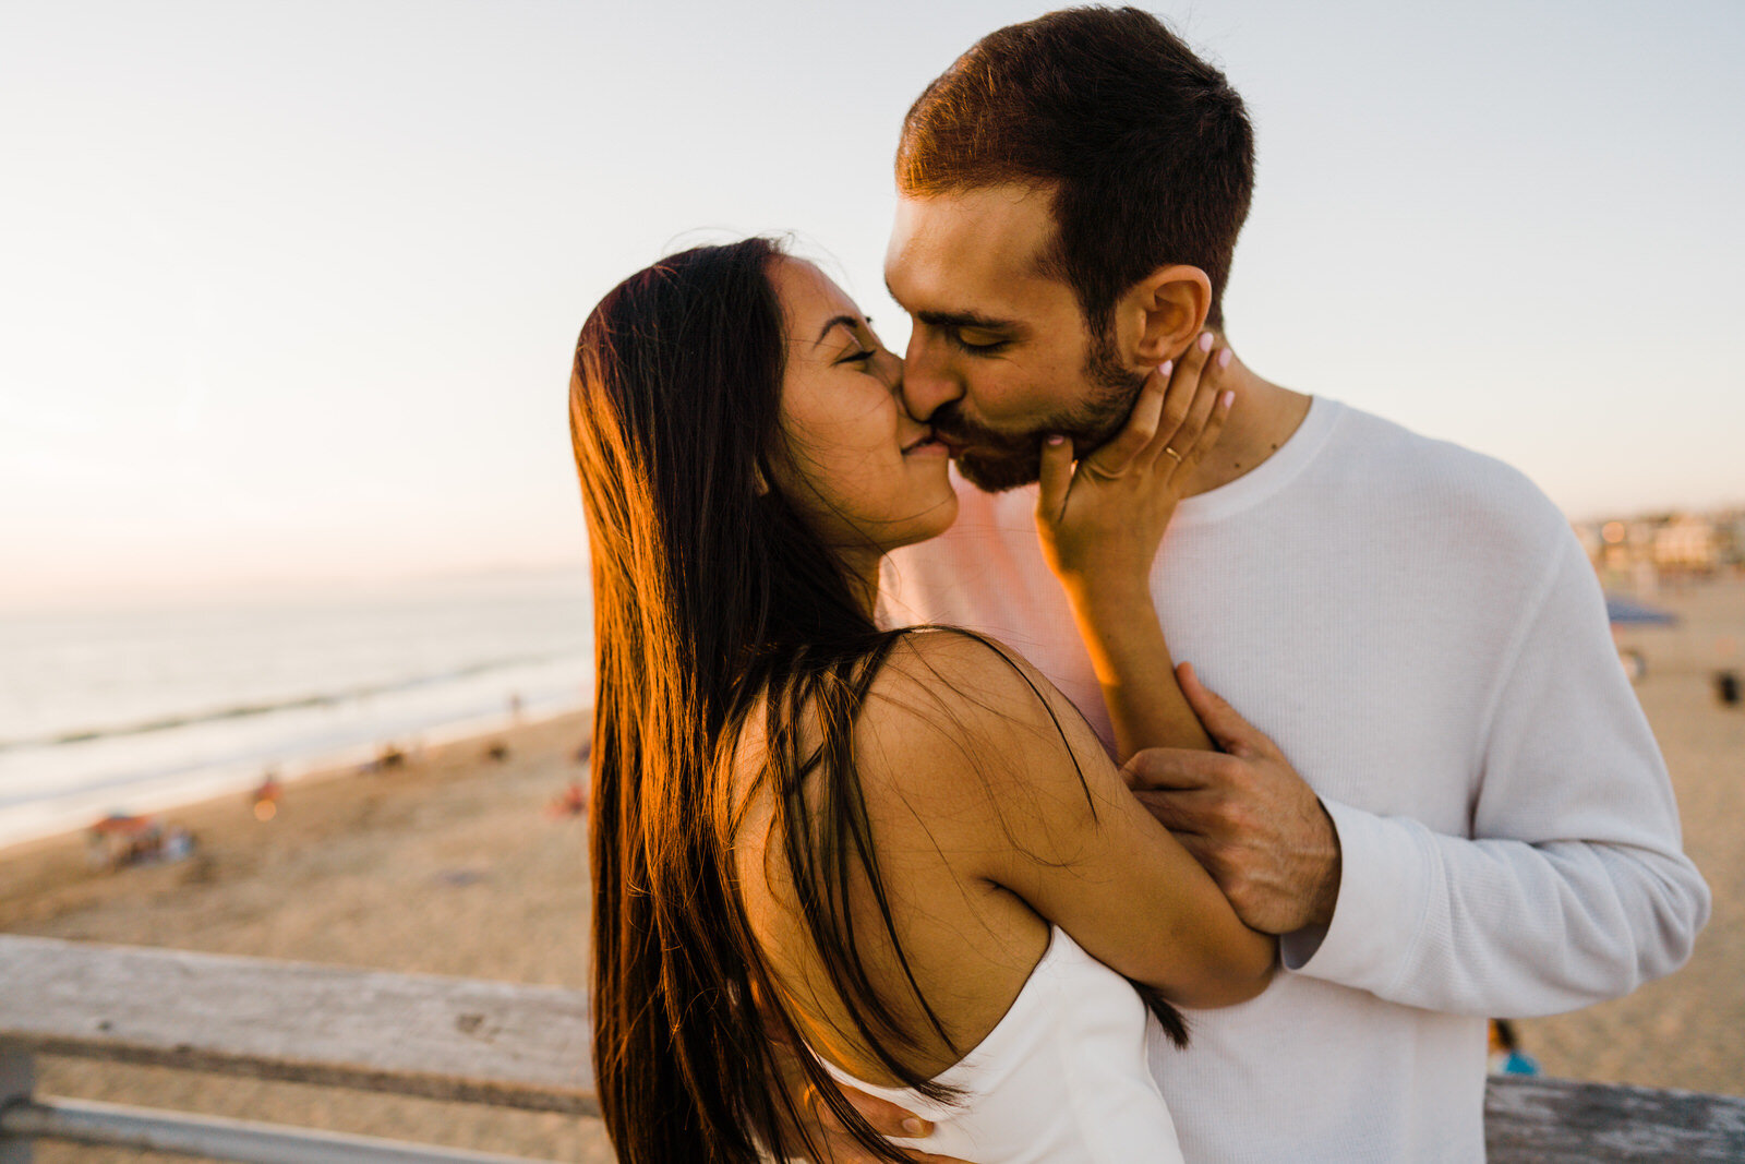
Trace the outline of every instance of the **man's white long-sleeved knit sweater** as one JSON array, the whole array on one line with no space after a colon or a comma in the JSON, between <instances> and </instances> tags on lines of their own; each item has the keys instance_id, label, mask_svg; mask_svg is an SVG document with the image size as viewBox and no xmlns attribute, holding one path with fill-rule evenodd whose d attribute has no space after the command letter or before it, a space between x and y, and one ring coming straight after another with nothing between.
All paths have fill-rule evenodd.
<instances>
[{"instance_id":1,"label":"man's white long-sleeved knit sweater","mask_svg":"<svg viewBox=\"0 0 1745 1164\"><path fill-rule=\"evenodd\" d=\"M958 492L956 525L886 565L886 618L1005 640L1112 738L1035 492ZM1290 972L1194 1012L1187 1052L1152 1047L1188 1162L1482 1161L1483 1019L1625 995L1708 916L1569 525L1508 466L1316 400L1180 506L1152 593L1344 852Z\"/></svg>"}]
</instances>

